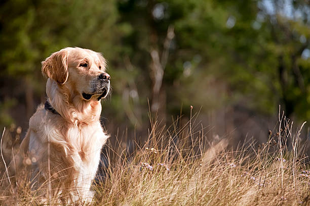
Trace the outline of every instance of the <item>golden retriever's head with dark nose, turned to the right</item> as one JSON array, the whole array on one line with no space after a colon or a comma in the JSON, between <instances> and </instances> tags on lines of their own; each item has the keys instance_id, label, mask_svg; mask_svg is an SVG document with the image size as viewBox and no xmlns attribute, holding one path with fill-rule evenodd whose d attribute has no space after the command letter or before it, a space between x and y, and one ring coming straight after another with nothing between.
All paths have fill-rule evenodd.
<instances>
[{"instance_id":1,"label":"golden retriever's head with dark nose, turned to the right","mask_svg":"<svg viewBox=\"0 0 310 206\"><path fill-rule=\"evenodd\" d=\"M84 100L100 100L110 89L110 76L105 73L106 61L90 49L67 47L42 62L42 73L67 86Z\"/></svg>"}]
</instances>

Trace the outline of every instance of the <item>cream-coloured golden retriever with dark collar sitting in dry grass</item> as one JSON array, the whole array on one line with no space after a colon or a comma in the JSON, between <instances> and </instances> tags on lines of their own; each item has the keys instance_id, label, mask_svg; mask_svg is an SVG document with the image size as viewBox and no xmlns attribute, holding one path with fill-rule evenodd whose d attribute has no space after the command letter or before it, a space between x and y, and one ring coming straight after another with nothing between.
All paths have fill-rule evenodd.
<instances>
[{"instance_id":1,"label":"cream-coloured golden retriever with dark collar sitting in dry grass","mask_svg":"<svg viewBox=\"0 0 310 206\"><path fill-rule=\"evenodd\" d=\"M90 49L66 47L42 62L47 77L44 105L29 120L29 129L10 171L31 169L32 188L62 203L90 202L102 146L100 99L110 91L106 61Z\"/></svg>"}]
</instances>

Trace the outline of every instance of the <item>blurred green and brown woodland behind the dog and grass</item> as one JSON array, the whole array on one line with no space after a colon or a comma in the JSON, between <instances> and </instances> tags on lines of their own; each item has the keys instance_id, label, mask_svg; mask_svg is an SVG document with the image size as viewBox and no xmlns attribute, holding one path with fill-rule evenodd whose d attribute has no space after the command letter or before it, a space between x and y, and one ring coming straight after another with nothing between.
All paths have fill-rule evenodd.
<instances>
[{"instance_id":1,"label":"blurred green and brown woodland behind the dog and grass","mask_svg":"<svg viewBox=\"0 0 310 206\"><path fill-rule=\"evenodd\" d=\"M187 122L192 105L207 137L263 142L279 105L310 120L309 37L308 0L1 1L0 128L24 136L46 100L41 62L78 46L108 60L112 138L147 137L149 114Z\"/></svg>"}]
</instances>

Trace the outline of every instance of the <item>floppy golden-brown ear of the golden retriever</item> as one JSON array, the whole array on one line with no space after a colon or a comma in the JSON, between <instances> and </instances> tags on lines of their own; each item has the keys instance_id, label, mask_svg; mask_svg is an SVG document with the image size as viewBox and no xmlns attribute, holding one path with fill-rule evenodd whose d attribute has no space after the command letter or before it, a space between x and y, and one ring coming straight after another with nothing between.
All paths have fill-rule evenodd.
<instances>
[{"instance_id":1,"label":"floppy golden-brown ear of the golden retriever","mask_svg":"<svg viewBox=\"0 0 310 206\"><path fill-rule=\"evenodd\" d=\"M42 74L64 84L68 79L68 53L65 49L53 53L42 62Z\"/></svg>"}]
</instances>

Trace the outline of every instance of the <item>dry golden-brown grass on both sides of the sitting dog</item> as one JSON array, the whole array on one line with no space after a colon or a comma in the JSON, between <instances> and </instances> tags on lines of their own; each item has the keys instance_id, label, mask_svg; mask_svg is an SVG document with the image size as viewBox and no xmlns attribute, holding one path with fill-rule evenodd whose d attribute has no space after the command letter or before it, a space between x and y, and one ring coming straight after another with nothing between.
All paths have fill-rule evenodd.
<instances>
[{"instance_id":1,"label":"dry golden-brown grass on both sides of the sitting dog","mask_svg":"<svg viewBox=\"0 0 310 206\"><path fill-rule=\"evenodd\" d=\"M245 142L235 150L228 149L228 138L208 142L205 129L191 121L176 125L165 129L151 121L142 147L129 152L119 142L108 148L107 177L93 186L92 205L310 205L301 128L293 132L285 117L279 115L278 129L264 144ZM29 185L14 193L8 185L0 203L36 205Z\"/></svg>"}]
</instances>

